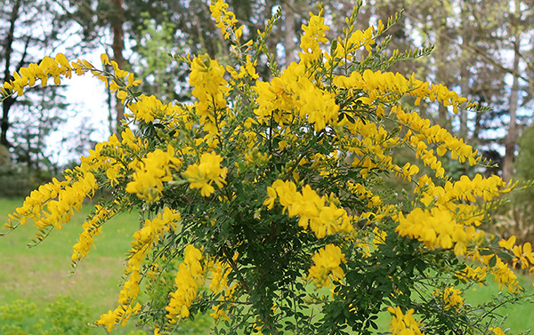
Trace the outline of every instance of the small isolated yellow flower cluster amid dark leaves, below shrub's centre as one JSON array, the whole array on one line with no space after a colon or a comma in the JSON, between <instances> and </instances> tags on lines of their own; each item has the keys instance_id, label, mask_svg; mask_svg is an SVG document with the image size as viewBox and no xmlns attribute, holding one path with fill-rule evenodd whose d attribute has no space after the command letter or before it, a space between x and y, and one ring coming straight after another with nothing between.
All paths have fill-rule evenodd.
<instances>
[{"instance_id":1,"label":"small isolated yellow flower cluster amid dark leaves, below shrub's centre","mask_svg":"<svg viewBox=\"0 0 534 335\"><path fill-rule=\"evenodd\" d=\"M334 244L327 244L312 257L313 266L310 267L308 278L317 287L330 286L332 282L343 279L344 271L341 263L346 262L341 248Z\"/></svg>"}]
</instances>

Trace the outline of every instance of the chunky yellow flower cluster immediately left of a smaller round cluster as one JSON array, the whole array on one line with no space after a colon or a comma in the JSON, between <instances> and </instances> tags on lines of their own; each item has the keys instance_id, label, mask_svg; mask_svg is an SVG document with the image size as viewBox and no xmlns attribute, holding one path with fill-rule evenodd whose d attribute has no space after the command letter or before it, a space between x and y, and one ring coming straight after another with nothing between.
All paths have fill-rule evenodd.
<instances>
[{"instance_id":1,"label":"chunky yellow flower cluster immediately left of a smaller round cluster","mask_svg":"<svg viewBox=\"0 0 534 335\"><path fill-rule=\"evenodd\" d=\"M156 149L142 159L133 180L126 186L126 192L139 196L149 203L158 201L163 191L163 183L173 179L171 169L177 169L182 162L174 157L170 145L166 151Z\"/></svg>"}]
</instances>

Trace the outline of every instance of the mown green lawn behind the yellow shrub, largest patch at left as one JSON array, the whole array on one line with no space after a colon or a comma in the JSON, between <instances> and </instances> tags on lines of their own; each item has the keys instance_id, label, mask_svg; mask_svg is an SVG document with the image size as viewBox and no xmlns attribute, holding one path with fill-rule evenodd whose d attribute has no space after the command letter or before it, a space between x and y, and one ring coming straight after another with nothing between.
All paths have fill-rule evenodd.
<instances>
[{"instance_id":1,"label":"mown green lawn behind the yellow shrub, largest patch at left","mask_svg":"<svg viewBox=\"0 0 534 335\"><path fill-rule=\"evenodd\" d=\"M0 223L4 223L7 214L21 203L21 199L0 199ZM91 307L88 321L116 307L125 252L130 248L134 231L139 228L137 213L125 213L109 221L103 227L103 234L96 238L97 248L80 263L76 273L69 276L71 248L77 242L82 222L90 209L90 205L86 206L71 223L53 231L44 243L32 249L27 247L35 232L35 227L30 224L0 238L0 306L24 299L39 307L50 304L58 296L68 295ZM532 276L520 278L523 287L531 292ZM474 304L495 294L498 294L498 287L490 283L490 286L469 291L465 302ZM503 329L510 328L508 333L534 329L533 307L523 304L499 309L499 313L508 315ZM389 321L388 313L381 315L380 331L387 331ZM125 329L119 327L113 333L130 334L134 329L132 324ZM92 335L104 333L106 331L100 328L91 331Z\"/></svg>"}]
</instances>

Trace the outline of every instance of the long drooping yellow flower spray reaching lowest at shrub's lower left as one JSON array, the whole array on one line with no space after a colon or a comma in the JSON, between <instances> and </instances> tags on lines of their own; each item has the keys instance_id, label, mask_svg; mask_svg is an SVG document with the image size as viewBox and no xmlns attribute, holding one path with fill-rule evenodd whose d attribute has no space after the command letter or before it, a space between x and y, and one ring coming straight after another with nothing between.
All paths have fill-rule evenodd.
<instances>
[{"instance_id":1,"label":"long drooping yellow flower spray reaching lowest at shrub's lower left","mask_svg":"<svg viewBox=\"0 0 534 335\"><path fill-rule=\"evenodd\" d=\"M101 315L96 324L105 325L108 331L115 328L118 323L125 325L126 321L141 310L141 305L136 302L140 293L139 284L142 279L142 262L155 243L169 231L176 228L180 221L179 212L166 207L156 218L145 219L144 227L134 233L132 249L125 267L127 280L118 294L118 307ZM134 305L135 302L135 305ZM133 306L134 305L134 306Z\"/></svg>"}]
</instances>

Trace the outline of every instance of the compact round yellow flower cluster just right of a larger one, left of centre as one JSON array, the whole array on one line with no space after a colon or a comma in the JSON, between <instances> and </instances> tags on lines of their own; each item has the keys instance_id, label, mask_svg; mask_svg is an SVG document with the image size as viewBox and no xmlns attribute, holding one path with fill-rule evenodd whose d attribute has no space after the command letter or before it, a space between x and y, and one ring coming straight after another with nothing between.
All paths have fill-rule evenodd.
<instances>
[{"instance_id":1,"label":"compact round yellow flower cluster just right of a larger one, left of centre","mask_svg":"<svg viewBox=\"0 0 534 335\"><path fill-rule=\"evenodd\" d=\"M199 164L191 164L183 172L183 176L190 181L190 188L200 188L200 194L203 196L212 195L215 191L213 184L223 188L226 184L227 168L221 167L223 157L211 153L204 153L200 156Z\"/></svg>"}]
</instances>

